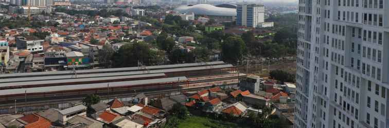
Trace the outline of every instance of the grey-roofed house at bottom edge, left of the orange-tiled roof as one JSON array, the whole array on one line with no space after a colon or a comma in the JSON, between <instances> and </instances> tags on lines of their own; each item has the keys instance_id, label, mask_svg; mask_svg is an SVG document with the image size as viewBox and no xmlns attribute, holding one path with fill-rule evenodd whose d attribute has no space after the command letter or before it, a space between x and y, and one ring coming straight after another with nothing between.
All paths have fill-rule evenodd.
<instances>
[{"instance_id":1,"label":"grey-roofed house at bottom edge, left of the orange-tiled roof","mask_svg":"<svg viewBox=\"0 0 389 128\"><path fill-rule=\"evenodd\" d=\"M67 120L68 127L102 128L103 123L86 116L75 116Z\"/></svg>"}]
</instances>

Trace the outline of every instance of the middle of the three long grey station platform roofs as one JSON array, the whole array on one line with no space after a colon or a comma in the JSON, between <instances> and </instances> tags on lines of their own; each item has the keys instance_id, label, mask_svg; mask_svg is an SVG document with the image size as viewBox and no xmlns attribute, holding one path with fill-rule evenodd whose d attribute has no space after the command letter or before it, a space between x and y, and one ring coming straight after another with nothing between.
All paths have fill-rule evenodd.
<instances>
[{"instance_id":1,"label":"middle of the three long grey station platform roofs","mask_svg":"<svg viewBox=\"0 0 389 128\"><path fill-rule=\"evenodd\" d=\"M0 83L1 87L12 87L12 86L28 86L34 84L55 84L55 83L65 83L65 82L88 82L96 80L115 80L115 79L129 79L129 78L142 78L142 77L156 77L156 76L165 76L164 73L157 74L143 74L143 75L131 75L131 76L112 76L112 77L98 77L98 78L74 78L74 79L59 79L59 80L44 80L44 81L26 81L26 82L10 82L10 83ZM24 78L18 78L24 79Z\"/></svg>"}]
</instances>

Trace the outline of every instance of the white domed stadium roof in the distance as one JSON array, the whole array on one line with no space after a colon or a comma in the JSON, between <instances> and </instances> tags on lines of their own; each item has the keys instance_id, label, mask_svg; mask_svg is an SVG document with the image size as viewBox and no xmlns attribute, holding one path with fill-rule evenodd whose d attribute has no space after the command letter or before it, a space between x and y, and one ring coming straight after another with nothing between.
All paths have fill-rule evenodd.
<instances>
[{"instance_id":1,"label":"white domed stadium roof in the distance","mask_svg":"<svg viewBox=\"0 0 389 128\"><path fill-rule=\"evenodd\" d=\"M191 13L196 15L215 15L215 16L236 16L236 9L221 8L208 4L198 4L193 6L180 6L174 11L180 13Z\"/></svg>"}]
</instances>

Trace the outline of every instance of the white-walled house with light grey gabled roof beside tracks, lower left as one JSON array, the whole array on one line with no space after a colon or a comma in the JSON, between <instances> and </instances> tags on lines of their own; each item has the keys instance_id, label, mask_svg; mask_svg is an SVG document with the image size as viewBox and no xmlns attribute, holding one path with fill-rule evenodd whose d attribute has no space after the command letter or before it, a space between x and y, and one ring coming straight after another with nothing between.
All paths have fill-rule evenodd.
<instances>
[{"instance_id":1,"label":"white-walled house with light grey gabled roof beside tracks, lower left","mask_svg":"<svg viewBox=\"0 0 389 128\"><path fill-rule=\"evenodd\" d=\"M86 116L86 106L81 104L61 110L59 111L58 119L61 124L66 124L67 120L73 118L76 115Z\"/></svg>"}]
</instances>

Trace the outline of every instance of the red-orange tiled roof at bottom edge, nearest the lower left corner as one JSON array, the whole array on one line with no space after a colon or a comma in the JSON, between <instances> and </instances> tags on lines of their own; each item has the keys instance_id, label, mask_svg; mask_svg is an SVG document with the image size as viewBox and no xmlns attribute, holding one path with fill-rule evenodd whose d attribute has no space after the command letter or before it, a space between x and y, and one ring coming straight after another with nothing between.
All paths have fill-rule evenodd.
<instances>
[{"instance_id":1,"label":"red-orange tiled roof at bottom edge, nearest the lower left corner","mask_svg":"<svg viewBox=\"0 0 389 128\"><path fill-rule=\"evenodd\" d=\"M26 121L25 128L48 128L51 125L51 122L37 114L28 114L20 118L23 121Z\"/></svg>"}]
</instances>

